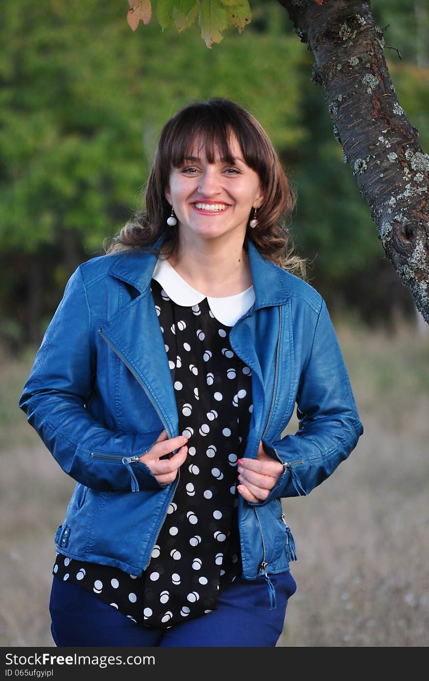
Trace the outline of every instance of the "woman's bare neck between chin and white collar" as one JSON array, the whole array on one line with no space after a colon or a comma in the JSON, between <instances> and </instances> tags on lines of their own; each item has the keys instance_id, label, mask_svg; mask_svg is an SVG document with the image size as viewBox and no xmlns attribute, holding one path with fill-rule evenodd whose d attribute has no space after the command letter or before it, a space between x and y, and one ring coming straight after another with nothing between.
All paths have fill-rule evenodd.
<instances>
[{"instance_id":1,"label":"woman's bare neck between chin and white collar","mask_svg":"<svg viewBox=\"0 0 429 681\"><path fill-rule=\"evenodd\" d=\"M186 240L181 234L177 253L169 263L196 291L205 296L234 296L252 286L249 257L243 235L217 242Z\"/></svg>"}]
</instances>

